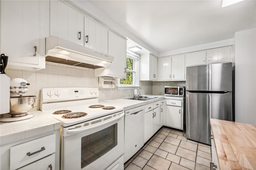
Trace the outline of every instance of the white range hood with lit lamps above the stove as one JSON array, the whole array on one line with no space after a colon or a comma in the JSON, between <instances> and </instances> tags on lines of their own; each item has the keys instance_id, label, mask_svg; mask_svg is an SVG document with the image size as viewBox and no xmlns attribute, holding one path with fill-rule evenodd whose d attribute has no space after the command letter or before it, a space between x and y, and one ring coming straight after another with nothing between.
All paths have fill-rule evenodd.
<instances>
[{"instance_id":1,"label":"white range hood with lit lamps above the stove","mask_svg":"<svg viewBox=\"0 0 256 170\"><path fill-rule=\"evenodd\" d=\"M46 37L46 61L86 68L106 67L114 57L55 36Z\"/></svg>"}]
</instances>

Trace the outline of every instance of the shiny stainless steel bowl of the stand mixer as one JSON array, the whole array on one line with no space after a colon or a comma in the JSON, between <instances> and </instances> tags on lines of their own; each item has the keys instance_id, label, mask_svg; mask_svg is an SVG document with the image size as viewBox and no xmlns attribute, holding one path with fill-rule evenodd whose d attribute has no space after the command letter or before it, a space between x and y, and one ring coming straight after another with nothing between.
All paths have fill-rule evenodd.
<instances>
[{"instance_id":1,"label":"shiny stainless steel bowl of the stand mixer","mask_svg":"<svg viewBox=\"0 0 256 170\"><path fill-rule=\"evenodd\" d=\"M10 97L10 114L12 117L27 115L34 107L36 96Z\"/></svg>"}]
</instances>

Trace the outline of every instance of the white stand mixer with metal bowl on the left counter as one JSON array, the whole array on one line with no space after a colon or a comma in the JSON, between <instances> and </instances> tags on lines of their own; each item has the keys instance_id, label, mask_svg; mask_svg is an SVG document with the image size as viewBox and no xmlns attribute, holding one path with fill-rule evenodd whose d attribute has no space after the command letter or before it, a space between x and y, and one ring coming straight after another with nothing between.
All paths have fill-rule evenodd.
<instances>
[{"instance_id":1,"label":"white stand mixer with metal bowl on the left counter","mask_svg":"<svg viewBox=\"0 0 256 170\"><path fill-rule=\"evenodd\" d=\"M2 114L1 122L20 121L34 117L33 114L28 114L34 107L36 96L23 96L28 92L30 85L23 78L13 78L10 80L10 113Z\"/></svg>"}]
</instances>

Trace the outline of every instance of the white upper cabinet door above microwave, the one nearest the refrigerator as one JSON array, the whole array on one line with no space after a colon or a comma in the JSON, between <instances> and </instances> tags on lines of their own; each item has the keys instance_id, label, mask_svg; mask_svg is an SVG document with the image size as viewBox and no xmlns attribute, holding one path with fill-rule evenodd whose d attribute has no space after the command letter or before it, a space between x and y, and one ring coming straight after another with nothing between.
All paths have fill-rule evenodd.
<instances>
[{"instance_id":1,"label":"white upper cabinet door above microwave, the one nearest the refrigerator","mask_svg":"<svg viewBox=\"0 0 256 170\"><path fill-rule=\"evenodd\" d=\"M172 80L185 80L185 55L172 56Z\"/></svg>"}]
</instances>

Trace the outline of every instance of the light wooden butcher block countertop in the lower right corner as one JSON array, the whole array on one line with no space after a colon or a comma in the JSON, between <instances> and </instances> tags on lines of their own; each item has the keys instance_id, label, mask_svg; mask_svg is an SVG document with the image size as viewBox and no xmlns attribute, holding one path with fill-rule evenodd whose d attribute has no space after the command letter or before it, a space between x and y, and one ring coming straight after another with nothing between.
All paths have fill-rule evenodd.
<instances>
[{"instance_id":1,"label":"light wooden butcher block countertop in the lower right corner","mask_svg":"<svg viewBox=\"0 0 256 170\"><path fill-rule=\"evenodd\" d=\"M210 122L220 170L256 170L256 125Z\"/></svg>"}]
</instances>

